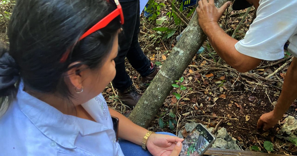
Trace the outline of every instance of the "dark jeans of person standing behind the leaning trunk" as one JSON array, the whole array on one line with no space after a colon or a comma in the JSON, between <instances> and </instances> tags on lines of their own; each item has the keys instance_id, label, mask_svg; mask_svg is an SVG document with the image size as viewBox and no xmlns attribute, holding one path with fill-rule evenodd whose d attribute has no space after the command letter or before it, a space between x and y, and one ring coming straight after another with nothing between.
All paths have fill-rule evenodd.
<instances>
[{"instance_id":1,"label":"dark jeans of person standing behind the leaning trunk","mask_svg":"<svg viewBox=\"0 0 297 156\"><path fill-rule=\"evenodd\" d=\"M140 31L139 0L120 0L120 3L124 13L124 32L119 36L119 47L121 50L114 60L116 63L116 77L112 82L116 89L123 92L132 84L129 75L126 73L125 57L143 77L151 73L151 63L144 55L138 42L138 33Z\"/></svg>"}]
</instances>

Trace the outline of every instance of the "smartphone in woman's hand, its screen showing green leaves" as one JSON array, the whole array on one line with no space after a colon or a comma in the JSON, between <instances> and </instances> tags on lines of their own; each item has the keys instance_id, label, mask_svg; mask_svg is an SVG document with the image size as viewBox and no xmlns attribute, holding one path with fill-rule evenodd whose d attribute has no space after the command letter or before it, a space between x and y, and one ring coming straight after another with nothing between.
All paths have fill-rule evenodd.
<instances>
[{"instance_id":1,"label":"smartphone in woman's hand, its screen showing green leaves","mask_svg":"<svg viewBox=\"0 0 297 156\"><path fill-rule=\"evenodd\" d=\"M198 124L182 142L180 156L201 156L216 140L202 124Z\"/></svg>"}]
</instances>

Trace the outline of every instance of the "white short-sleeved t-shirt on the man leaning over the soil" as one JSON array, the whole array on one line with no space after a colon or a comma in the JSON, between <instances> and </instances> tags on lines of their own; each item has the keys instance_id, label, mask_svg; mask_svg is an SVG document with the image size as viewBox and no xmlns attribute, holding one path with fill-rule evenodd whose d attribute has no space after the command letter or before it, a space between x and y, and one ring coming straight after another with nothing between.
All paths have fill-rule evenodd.
<instances>
[{"instance_id":1,"label":"white short-sleeved t-shirt on the man leaning over the soil","mask_svg":"<svg viewBox=\"0 0 297 156\"><path fill-rule=\"evenodd\" d=\"M297 1L260 0L257 17L243 40L235 44L240 53L263 60L284 57L284 45L297 57Z\"/></svg>"}]
</instances>

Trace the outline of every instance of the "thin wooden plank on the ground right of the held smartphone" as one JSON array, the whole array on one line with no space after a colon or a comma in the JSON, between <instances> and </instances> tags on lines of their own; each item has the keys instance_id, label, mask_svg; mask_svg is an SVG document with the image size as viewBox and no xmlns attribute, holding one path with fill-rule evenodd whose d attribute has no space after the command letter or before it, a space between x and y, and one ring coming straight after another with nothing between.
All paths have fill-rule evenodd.
<instances>
[{"instance_id":1,"label":"thin wooden plank on the ground right of the held smartphone","mask_svg":"<svg viewBox=\"0 0 297 156\"><path fill-rule=\"evenodd\" d=\"M209 148L204 155L218 155L218 156L285 156L279 154L269 154L252 151L240 151L232 149Z\"/></svg>"}]
</instances>

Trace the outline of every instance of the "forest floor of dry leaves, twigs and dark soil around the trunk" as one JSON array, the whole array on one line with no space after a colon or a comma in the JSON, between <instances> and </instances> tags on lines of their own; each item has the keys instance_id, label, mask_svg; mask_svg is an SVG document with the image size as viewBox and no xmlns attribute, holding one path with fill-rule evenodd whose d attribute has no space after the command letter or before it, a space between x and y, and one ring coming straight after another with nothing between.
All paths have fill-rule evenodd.
<instances>
[{"instance_id":1,"label":"forest floor of dry leaves, twigs and dark soil around the trunk","mask_svg":"<svg viewBox=\"0 0 297 156\"><path fill-rule=\"evenodd\" d=\"M167 56L177 44L176 36L186 28L186 24L183 21L176 23L174 17L169 18L167 13L171 12L171 6L163 0L159 0L159 3L164 3L164 6L159 7L158 22L141 15L139 42L151 62L162 68ZM176 2L175 4L178 5ZM6 28L9 16L3 18L3 14L10 13L11 6L9 3L2 2L0 9L0 40L8 43ZM182 11L183 16L186 17L192 9L193 7L190 7ZM229 7L219 22L220 26L230 36L238 27L234 38L242 39L249 29L254 9L244 18L243 23L238 25L245 13L246 10L233 11ZM186 18L190 20L191 16ZM170 31L153 30L156 27L165 27ZM173 33L173 36L163 38L164 35L168 36L170 33ZM238 73L220 60L208 41L204 42L203 47L205 48L204 52L201 55L197 54L184 71L182 84L187 89L183 91L173 89L173 92L181 94L181 99L177 100L171 92L149 129L176 134L179 130L183 130L184 125L189 122L200 122L207 127L215 127L222 119L221 127L227 128L227 131L237 139L237 144L243 150L251 150L252 146L258 146L262 152L267 152L263 147L263 142L271 141L274 144L274 152L271 153L297 154L294 144L276 136L282 125L282 120L268 132L260 132L256 128L259 117L273 110L273 104L276 103L280 95L292 56L284 51L286 56L281 60L263 61L255 70ZM140 75L128 61L126 62L126 71L133 80L133 84L139 89ZM139 91L144 92L141 89ZM107 86L102 94L111 108L126 115L132 111L131 108L118 100L117 91L111 85ZM296 103L293 103L283 119L288 115L296 116L296 108ZM178 121L178 125L173 124L173 128L172 126L170 128L170 119Z\"/></svg>"}]
</instances>

